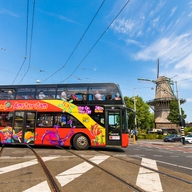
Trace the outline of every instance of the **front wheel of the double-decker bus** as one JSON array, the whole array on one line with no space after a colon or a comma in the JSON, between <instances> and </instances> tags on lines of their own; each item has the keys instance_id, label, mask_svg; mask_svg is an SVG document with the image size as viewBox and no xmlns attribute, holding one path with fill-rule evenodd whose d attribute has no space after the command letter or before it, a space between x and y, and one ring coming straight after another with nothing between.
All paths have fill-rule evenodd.
<instances>
[{"instance_id":1,"label":"front wheel of the double-decker bus","mask_svg":"<svg viewBox=\"0 0 192 192\"><path fill-rule=\"evenodd\" d=\"M77 134L73 139L73 145L77 150L86 150L89 148L89 141L85 135Z\"/></svg>"}]
</instances>

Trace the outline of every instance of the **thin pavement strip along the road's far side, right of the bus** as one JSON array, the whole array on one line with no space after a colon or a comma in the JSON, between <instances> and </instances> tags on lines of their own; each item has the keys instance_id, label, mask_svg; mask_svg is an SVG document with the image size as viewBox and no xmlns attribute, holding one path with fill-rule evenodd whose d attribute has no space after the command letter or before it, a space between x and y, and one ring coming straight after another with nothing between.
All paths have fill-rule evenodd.
<instances>
[{"instance_id":1,"label":"thin pavement strip along the road's far side, right of the bus","mask_svg":"<svg viewBox=\"0 0 192 192\"><path fill-rule=\"evenodd\" d=\"M130 144L146 144L150 143L153 145L164 145L164 146L180 146L180 147L187 147L187 148L192 148L192 144L186 143L183 145L181 142L164 142L163 140L160 139L138 139L137 141L134 142L133 138L130 138Z\"/></svg>"}]
</instances>

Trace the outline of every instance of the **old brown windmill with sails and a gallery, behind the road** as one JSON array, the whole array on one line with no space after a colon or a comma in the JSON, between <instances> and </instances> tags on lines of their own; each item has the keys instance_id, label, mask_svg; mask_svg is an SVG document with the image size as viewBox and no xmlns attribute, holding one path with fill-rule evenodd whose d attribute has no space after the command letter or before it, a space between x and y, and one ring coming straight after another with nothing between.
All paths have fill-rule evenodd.
<instances>
[{"instance_id":1,"label":"old brown windmill with sails and a gallery, behind the road","mask_svg":"<svg viewBox=\"0 0 192 192\"><path fill-rule=\"evenodd\" d=\"M176 128L177 125L171 123L167 116L170 112L170 102L173 99L177 99L174 95L174 82L168 77L159 77L159 60L157 61L157 80L149 79L138 79L141 81L150 81L156 84L155 98L147 101L150 107L154 110L155 116L155 128L156 129L172 129ZM180 99L180 103L184 103L185 99Z\"/></svg>"}]
</instances>

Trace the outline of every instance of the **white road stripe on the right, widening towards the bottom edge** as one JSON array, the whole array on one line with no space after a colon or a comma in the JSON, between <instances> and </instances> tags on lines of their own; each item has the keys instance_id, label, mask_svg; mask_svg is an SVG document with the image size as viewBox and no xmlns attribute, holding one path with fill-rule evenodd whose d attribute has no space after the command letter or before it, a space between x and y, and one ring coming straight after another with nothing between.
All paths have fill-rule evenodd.
<instances>
[{"instance_id":1,"label":"white road stripe on the right, widening towards the bottom edge","mask_svg":"<svg viewBox=\"0 0 192 192\"><path fill-rule=\"evenodd\" d=\"M158 170L155 160L142 158L141 165ZM161 181L158 173L140 167L136 185L148 192L162 192Z\"/></svg>"}]
</instances>

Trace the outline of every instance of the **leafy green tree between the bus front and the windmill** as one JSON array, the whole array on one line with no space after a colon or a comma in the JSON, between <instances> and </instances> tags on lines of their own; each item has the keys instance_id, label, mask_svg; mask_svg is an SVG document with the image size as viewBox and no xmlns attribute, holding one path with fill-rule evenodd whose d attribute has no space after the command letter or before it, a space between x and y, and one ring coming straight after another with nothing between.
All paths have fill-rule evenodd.
<instances>
[{"instance_id":1,"label":"leafy green tree between the bus front and the windmill","mask_svg":"<svg viewBox=\"0 0 192 192\"><path fill-rule=\"evenodd\" d=\"M124 97L124 100L128 108L134 109L134 97ZM136 96L135 100L137 127L141 129L154 127L154 114L150 112L149 105L144 102L143 99L139 96ZM129 127L131 129L135 128L135 120L133 113L129 113Z\"/></svg>"}]
</instances>

